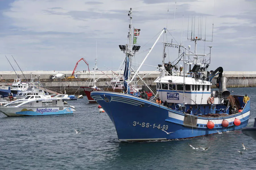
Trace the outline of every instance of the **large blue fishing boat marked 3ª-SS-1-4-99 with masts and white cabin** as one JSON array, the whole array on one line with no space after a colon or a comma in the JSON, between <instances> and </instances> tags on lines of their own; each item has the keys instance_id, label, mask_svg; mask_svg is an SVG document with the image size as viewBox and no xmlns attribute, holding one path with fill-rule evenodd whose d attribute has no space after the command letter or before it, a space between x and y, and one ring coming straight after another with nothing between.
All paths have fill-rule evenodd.
<instances>
[{"instance_id":1,"label":"large blue fishing boat marked 3\u00aa-SS-1-4-99 with masts and white cabin","mask_svg":"<svg viewBox=\"0 0 256 170\"><path fill-rule=\"evenodd\" d=\"M128 33L130 41L124 46L125 48L123 47L123 50L125 50L127 66L127 73L124 77L126 77L126 86L129 91L130 82L135 76L140 78L137 73L156 42L162 34L169 31L166 28L162 30L139 69L131 75L130 69L133 70L133 68L129 61L135 53L134 45L131 44L131 39L133 39L131 8L128 16L130 17ZM238 130L247 125L250 100L243 103L242 95L230 95L230 91L226 88L228 78L222 76L222 67L218 67L215 71L208 71L210 59L206 58L210 57L210 53L209 55L197 53L197 42L207 41L206 39L192 36L188 39L195 43L194 51L189 49L190 46L185 48L181 44L169 43L164 39L162 64L158 65L160 75L154 81L157 91L153 92L155 98L159 97L165 101L164 105L159 102L159 99L156 103L154 99L143 99L130 95L129 92L127 94L106 91L91 92L91 97L102 106L113 122L120 141L192 138ZM178 70L176 61L173 67L169 65L171 69L167 68L164 60L168 47L177 47L177 63L182 62L184 68L180 65ZM209 47L211 49L212 46ZM215 76L217 76L214 79L217 90L211 90Z\"/></svg>"}]
</instances>

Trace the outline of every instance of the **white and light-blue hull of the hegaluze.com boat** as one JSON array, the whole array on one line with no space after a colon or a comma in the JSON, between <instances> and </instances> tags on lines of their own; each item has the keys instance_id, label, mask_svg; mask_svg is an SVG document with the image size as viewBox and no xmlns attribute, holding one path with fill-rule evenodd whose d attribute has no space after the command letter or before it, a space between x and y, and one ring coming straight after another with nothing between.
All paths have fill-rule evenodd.
<instances>
[{"instance_id":1,"label":"white and light-blue hull of the hegaluze.com boat","mask_svg":"<svg viewBox=\"0 0 256 170\"><path fill-rule=\"evenodd\" d=\"M0 107L0 112L6 116L39 116L53 114L72 114L74 107Z\"/></svg>"}]
</instances>

